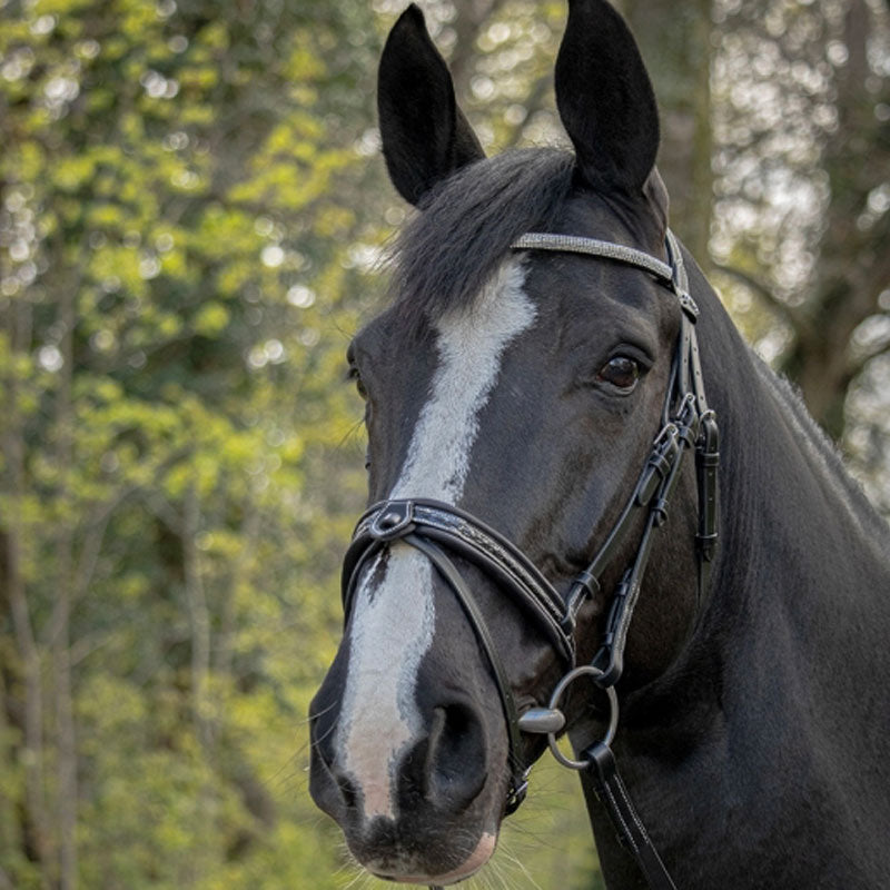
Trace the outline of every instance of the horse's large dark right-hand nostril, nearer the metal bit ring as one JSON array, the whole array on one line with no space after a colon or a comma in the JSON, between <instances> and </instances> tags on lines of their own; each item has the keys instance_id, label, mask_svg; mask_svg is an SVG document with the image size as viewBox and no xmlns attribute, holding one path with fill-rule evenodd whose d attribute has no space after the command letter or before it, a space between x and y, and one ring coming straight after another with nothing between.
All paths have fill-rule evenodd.
<instances>
[{"instance_id":1,"label":"horse's large dark right-hand nostril, nearer the metal bit ring","mask_svg":"<svg viewBox=\"0 0 890 890\"><path fill-rule=\"evenodd\" d=\"M431 803L458 810L469 805L487 773L482 720L463 703L436 708L425 764L424 793Z\"/></svg>"}]
</instances>

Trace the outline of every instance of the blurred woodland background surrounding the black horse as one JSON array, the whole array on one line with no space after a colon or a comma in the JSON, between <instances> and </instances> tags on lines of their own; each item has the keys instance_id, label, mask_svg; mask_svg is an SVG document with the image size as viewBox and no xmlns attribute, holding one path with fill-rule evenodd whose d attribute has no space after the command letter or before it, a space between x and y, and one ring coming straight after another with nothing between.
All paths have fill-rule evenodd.
<instances>
[{"instance_id":1,"label":"blurred woodland background surrounding the black horse","mask_svg":"<svg viewBox=\"0 0 890 890\"><path fill-rule=\"evenodd\" d=\"M423 0L486 149L565 4ZM624 0L673 226L890 512L890 4ZM307 792L403 0L0 0L0 890L383 887ZM755 434L753 431L752 434ZM601 887L544 765L479 888Z\"/></svg>"}]
</instances>

